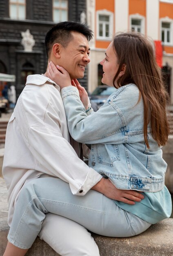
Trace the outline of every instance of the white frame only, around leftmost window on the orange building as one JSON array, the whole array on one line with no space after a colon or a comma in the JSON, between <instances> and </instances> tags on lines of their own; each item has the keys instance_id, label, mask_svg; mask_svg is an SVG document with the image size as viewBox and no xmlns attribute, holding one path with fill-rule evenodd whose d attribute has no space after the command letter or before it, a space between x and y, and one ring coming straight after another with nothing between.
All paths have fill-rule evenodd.
<instances>
[{"instance_id":1,"label":"white frame only, around leftmost window on the orange building","mask_svg":"<svg viewBox=\"0 0 173 256\"><path fill-rule=\"evenodd\" d=\"M99 35L99 16L103 15L103 16L109 16L109 36L100 36ZM97 14L97 40L103 40L103 41L111 41L112 40L112 36L113 36L113 12L108 11L106 9L104 10L98 10Z\"/></svg>"}]
</instances>

